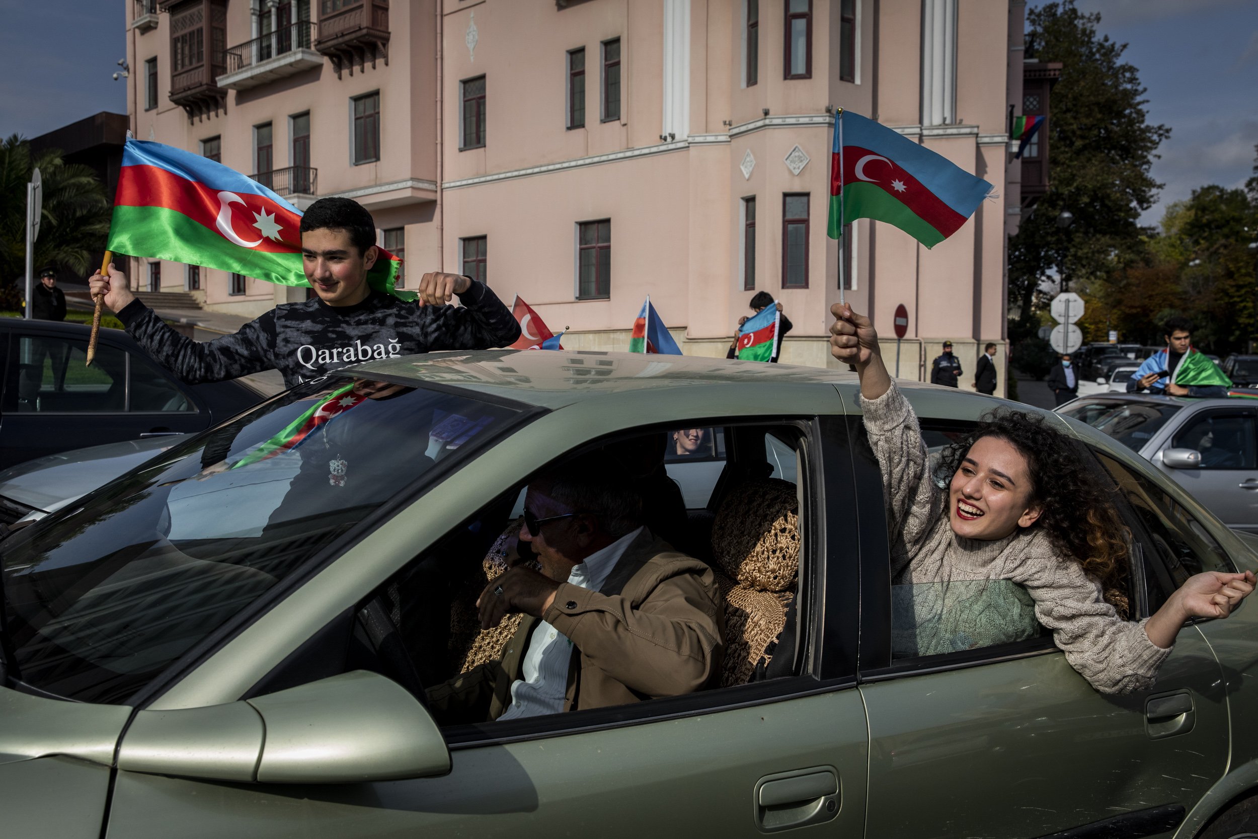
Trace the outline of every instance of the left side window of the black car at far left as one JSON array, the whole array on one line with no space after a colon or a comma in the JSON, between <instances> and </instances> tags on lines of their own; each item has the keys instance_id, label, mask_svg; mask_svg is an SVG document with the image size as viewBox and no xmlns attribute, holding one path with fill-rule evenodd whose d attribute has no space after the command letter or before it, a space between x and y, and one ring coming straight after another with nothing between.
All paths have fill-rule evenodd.
<instances>
[{"instance_id":1,"label":"left side window of the black car at far left","mask_svg":"<svg viewBox=\"0 0 1258 839\"><path fill-rule=\"evenodd\" d=\"M87 365L87 341L24 335L18 340L16 389L5 410L16 413L125 411L127 357L114 347L97 346Z\"/></svg>"}]
</instances>

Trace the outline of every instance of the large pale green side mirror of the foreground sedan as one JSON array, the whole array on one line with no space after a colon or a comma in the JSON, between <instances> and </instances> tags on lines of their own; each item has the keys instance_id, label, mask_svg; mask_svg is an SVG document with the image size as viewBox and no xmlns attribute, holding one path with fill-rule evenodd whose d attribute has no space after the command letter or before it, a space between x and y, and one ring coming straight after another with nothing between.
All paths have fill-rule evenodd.
<instances>
[{"instance_id":1,"label":"large pale green side mirror of the foreground sedan","mask_svg":"<svg viewBox=\"0 0 1258 839\"><path fill-rule=\"evenodd\" d=\"M444 775L450 753L424 707L353 670L268 696L140 711L118 769L257 784L359 784Z\"/></svg>"}]
</instances>

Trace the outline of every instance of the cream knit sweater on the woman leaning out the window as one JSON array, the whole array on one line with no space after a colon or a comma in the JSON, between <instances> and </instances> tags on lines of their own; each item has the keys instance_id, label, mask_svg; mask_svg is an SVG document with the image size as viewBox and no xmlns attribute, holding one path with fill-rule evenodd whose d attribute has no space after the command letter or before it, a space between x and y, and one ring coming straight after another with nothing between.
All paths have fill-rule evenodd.
<instances>
[{"instance_id":1,"label":"cream knit sweater on the woman leaning out the window","mask_svg":"<svg viewBox=\"0 0 1258 839\"><path fill-rule=\"evenodd\" d=\"M1058 553L1032 527L999 541L952 532L947 489L927 474L917 416L894 384L874 400L860 399L869 443L882 468L896 584L1013 580L1035 600L1035 618L1053 631L1066 659L1101 693L1147 688L1169 649L1149 640L1144 623L1121 620L1082 566Z\"/></svg>"}]
</instances>

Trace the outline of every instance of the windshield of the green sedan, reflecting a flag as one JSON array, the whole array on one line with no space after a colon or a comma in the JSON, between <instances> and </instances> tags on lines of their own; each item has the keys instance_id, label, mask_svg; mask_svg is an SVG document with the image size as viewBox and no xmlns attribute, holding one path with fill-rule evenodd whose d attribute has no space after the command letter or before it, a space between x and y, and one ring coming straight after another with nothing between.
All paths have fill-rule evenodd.
<instances>
[{"instance_id":1,"label":"windshield of the green sedan, reflecting a flag","mask_svg":"<svg viewBox=\"0 0 1258 839\"><path fill-rule=\"evenodd\" d=\"M125 703L321 548L438 463L440 473L457 468L523 411L326 377L172 447L4 542L10 670L57 696Z\"/></svg>"}]
</instances>

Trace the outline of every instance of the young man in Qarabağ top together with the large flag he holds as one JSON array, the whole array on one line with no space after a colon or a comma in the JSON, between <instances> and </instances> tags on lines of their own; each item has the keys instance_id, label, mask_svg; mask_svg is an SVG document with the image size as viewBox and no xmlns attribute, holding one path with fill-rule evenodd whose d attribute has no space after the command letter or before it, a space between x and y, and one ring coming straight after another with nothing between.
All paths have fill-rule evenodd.
<instances>
[{"instance_id":1,"label":"young man in Qaraba\u011f top together with the large flag he holds","mask_svg":"<svg viewBox=\"0 0 1258 839\"><path fill-rule=\"evenodd\" d=\"M375 243L375 221L356 201L320 199L302 214L221 164L128 140L109 250L308 286L316 297L196 343L138 301L112 264L89 286L131 337L187 384L278 370L292 387L362 361L503 347L520 337L511 311L469 277L431 272L418 293L399 291L400 260ZM462 306L449 304L454 296Z\"/></svg>"}]
</instances>

